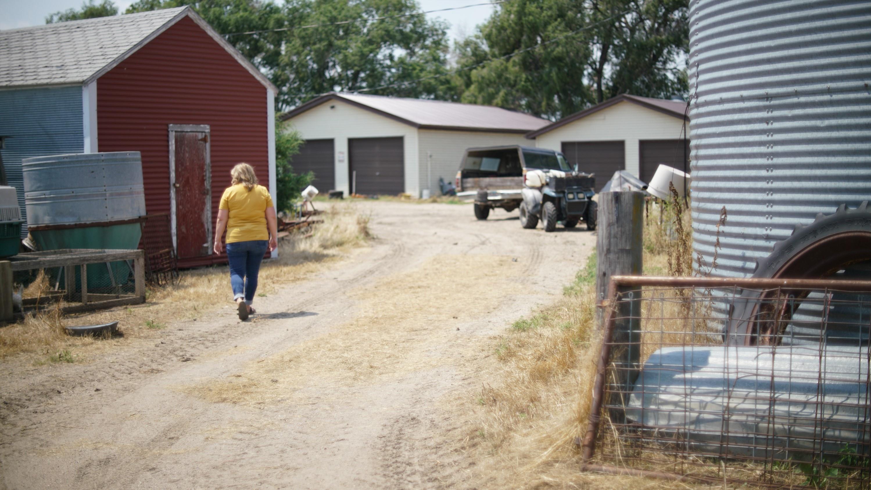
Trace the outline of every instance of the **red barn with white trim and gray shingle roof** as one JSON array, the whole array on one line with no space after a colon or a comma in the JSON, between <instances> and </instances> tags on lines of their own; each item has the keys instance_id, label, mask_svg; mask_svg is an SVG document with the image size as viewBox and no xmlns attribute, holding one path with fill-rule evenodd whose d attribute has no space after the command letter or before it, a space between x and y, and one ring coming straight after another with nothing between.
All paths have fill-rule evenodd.
<instances>
[{"instance_id":1,"label":"red barn with white trim and gray shingle roof","mask_svg":"<svg viewBox=\"0 0 871 490\"><path fill-rule=\"evenodd\" d=\"M171 215L180 266L226 260L211 243L233 165L253 165L275 198L277 90L191 8L0 34L0 58L24 48L9 88L80 87L81 105L54 117L81 120L84 153L142 153L145 208Z\"/></svg>"}]
</instances>

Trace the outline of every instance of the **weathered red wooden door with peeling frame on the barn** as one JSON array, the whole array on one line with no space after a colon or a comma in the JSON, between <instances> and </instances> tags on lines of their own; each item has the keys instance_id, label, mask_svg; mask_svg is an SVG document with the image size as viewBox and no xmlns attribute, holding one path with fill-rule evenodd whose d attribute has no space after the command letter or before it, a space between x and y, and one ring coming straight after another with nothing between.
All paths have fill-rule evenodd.
<instances>
[{"instance_id":1,"label":"weathered red wooden door with peeling frame on the barn","mask_svg":"<svg viewBox=\"0 0 871 490\"><path fill-rule=\"evenodd\" d=\"M209 140L209 126L169 126L172 242L179 259L212 253Z\"/></svg>"}]
</instances>

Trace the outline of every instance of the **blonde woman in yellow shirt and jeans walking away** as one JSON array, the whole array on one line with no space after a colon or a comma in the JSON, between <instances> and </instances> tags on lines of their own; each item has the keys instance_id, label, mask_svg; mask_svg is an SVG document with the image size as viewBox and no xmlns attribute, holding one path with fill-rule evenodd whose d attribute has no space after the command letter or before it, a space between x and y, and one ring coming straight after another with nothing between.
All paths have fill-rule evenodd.
<instances>
[{"instance_id":1,"label":"blonde woman in yellow shirt and jeans walking away","mask_svg":"<svg viewBox=\"0 0 871 490\"><path fill-rule=\"evenodd\" d=\"M240 163L230 171L233 185L220 198L218 223L215 225L216 254L220 254L221 236L226 228L226 257L230 262L230 286L238 305L239 319L254 312L251 304L257 291L257 273L267 248L278 248L278 221L272 196L257 184L254 169Z\"/></svg>"}]
</instances>

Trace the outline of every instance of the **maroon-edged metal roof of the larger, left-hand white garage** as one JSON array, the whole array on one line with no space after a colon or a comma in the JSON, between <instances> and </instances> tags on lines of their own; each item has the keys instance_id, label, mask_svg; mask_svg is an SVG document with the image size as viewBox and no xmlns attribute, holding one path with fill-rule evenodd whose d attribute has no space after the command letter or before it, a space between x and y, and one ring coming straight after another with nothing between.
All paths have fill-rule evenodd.
<instances>
[{"instance_id":1,"label":"maroon-edged metal roof of the larger, left-hand white garage","mask_svg":"<svg viewBox=\"0 0 871 490\"><path fill-rule=\"evenodd\" d=\"M341 100L381 116L421 129L527 133L550 124L550 120L493 105L460 104L443 100L403 99L358 93L328 93L300 105L283 120L330 100Z\"/></svg>"}]
</instances>

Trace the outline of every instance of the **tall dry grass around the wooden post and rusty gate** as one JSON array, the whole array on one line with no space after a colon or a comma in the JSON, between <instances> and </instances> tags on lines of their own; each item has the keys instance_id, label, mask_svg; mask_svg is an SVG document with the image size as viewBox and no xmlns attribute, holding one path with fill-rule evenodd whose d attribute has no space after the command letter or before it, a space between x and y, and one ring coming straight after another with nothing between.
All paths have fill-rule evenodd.
<instances>
[{"instance_id":1,"label":"tall dry grass around the wooden post and rusty gate","mask_svg":"<svg viewBox=\"0 0 871 490\"><path fill-rule=\"evenodd\" d=\"M691 273L689 213L675 202L651 203L645 222L645 274L666 275L678 264ZM662 220L660 220L662 216ZM680 241L681 244L673 242ZM595 255L558 303L514 325L495 345L496 383L483 386L472 403L474 429L463 450L483 453L483 487L692 487L664 480L579 473L600 332L595 326ZM679 316L680 302L666 316ZM672 311L673 310L673 311ZM661 312L645 311L646 315ZM673 328L679 329L680 322ZM659 329L648 323L648 328ZM672 328L672 327L670 327ZM675 334L678 341L683 334ZM649 354L649 353L648 353Z\"/></svg>"}]
</instances>

